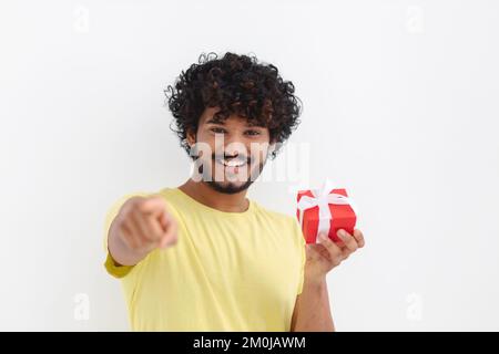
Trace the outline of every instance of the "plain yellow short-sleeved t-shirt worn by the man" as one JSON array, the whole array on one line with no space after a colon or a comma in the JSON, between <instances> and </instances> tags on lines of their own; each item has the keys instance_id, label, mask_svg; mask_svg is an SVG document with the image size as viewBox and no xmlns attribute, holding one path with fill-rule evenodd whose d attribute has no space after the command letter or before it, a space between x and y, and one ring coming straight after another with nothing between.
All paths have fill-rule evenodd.
<instances>
[{"instance_id":1,"label":"plain yellow short-sleeved t-shirt worn by the man","mask_svg":"<svg viewBox=\"0 0 499 354\"><path fill-rule=\"evenodd\" d=\"M134 195L106 216L106 251L109 226ZM105 261L108 272L122 281L132 330L289 331L305 267L296 219L253 200L244 212L224 212L179 188L156 195L179 223L177 243L133 267L116 267L109 252Z\"/></svg>"}]
</instances>

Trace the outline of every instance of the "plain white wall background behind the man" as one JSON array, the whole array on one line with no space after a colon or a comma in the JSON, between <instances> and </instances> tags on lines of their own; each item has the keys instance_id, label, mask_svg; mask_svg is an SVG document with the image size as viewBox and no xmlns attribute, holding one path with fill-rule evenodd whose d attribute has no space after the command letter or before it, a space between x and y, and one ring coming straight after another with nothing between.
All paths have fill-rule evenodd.
<instances>
[{"instance_id":1,"label":"plain white wall background behind the man","mask_svg":"<svg viewBox=\"0 0 499 354\"><path fill-rule=\"evenodd\" d=\"M499 330L498 45L493 0L2 0L0 330L129 329L103 218L187 178L163 90L210 51L274 63L304 102L267 168L360 208L338 331ZM292 215L292 179L249 197Z\"/></svg>"}]
</instances>

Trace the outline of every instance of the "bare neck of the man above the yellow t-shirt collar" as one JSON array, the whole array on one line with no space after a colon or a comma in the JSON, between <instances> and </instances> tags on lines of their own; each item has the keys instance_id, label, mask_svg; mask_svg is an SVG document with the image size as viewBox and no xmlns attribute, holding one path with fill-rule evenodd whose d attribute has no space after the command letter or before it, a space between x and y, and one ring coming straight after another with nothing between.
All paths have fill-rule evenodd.
<instances>
[{"instance_id":1,"label":"bare neck of the man above the yellow t-shirt collar","mask_svg":"<svg viewBox=\"0 0 499 354\"><path fill-rule=\"evenodd\" d=\"M205 183L194 181L192 178L189 178L179 189L198 202L220 211L243 212L249 207L246 190L228 195L216 191Z\"/></svg>"}]
</instances>

